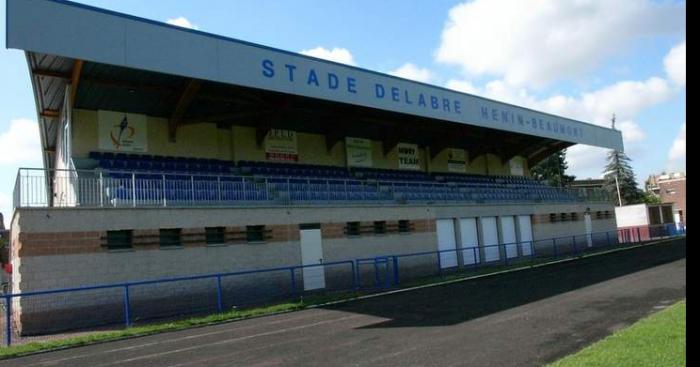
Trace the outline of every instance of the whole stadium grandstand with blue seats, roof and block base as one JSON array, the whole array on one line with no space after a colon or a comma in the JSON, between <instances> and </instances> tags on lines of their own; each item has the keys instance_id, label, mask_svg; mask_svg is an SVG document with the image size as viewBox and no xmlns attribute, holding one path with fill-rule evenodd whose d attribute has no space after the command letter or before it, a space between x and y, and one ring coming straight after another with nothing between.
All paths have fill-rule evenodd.
<instances>
[{"instance_id":1,"label":"whole stadium grandstand with blue seats, roof and block base","mask_svg":"<svg viewBox=\"0 0 700 367\"><path fill-rule=\"evenodd\" d=\"M575 144L622 150L616 130L67 1L7 0L7 47L26 54L44 164L17 176L15 293L473 253L449 268L616 228L608 195L529 174ZM341 275L305 269L300 291ZM132 297L198 292L175 288ZM22 298L14 317L30 332L100 299Z\"/></svg>"}]
</instances>

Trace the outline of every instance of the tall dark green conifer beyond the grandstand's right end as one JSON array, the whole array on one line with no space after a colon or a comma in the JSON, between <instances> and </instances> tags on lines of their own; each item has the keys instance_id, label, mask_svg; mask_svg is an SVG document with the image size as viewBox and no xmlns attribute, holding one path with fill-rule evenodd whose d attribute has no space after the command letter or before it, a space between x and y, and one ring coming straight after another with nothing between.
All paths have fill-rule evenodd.
<instances>
[{"instance_id":1,"label":"tall dark green conifer beyond the grandstand's right end","mask_svg":"<svg viewBox=\"0 0 700 367\"><path fill-rule=\"evenodd\" d=\"M630 165L631 160L624 152L611 150L608 153L608 164L605 166L605 190L617 197L615 176L620 183L622 205L640 204L644 202L644 192L637 187L637 179Z\"/></svg>"}]
</instances>

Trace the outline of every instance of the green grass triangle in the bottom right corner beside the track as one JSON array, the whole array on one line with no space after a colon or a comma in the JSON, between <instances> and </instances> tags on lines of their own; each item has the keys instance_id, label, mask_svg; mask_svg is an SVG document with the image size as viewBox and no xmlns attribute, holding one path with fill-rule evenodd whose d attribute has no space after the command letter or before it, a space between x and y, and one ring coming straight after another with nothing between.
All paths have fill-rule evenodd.
<instances>
[{"instance_id":1,"label":"green grass triangle in the bottom right corner beside the track","mask_svg":"<svg viewBox=\"0 0 700 367\"><path fill-rule=\"evenodd\" d=\"M550 367L685 366L685 329L685 301L681 301Z\"/></svg>"}]
</instances>

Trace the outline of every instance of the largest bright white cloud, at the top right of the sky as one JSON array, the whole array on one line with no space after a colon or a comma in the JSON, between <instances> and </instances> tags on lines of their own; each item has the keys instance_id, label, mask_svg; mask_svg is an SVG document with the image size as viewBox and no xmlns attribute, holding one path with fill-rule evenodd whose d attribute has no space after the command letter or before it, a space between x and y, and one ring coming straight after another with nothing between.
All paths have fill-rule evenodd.
<instances>
[{"instance_id":1,"label":"largest bright white cloud, at the top right of the sky","mask_svg":"<svg viewBox=\"0 0 700 367\"><path fill-rule=\"evenodd\" d=\"M684 32L685 4L475 0L453 7L435 53L467 75L542 86L581 75L630 41Z\"/></svg>"}]
</instances>

